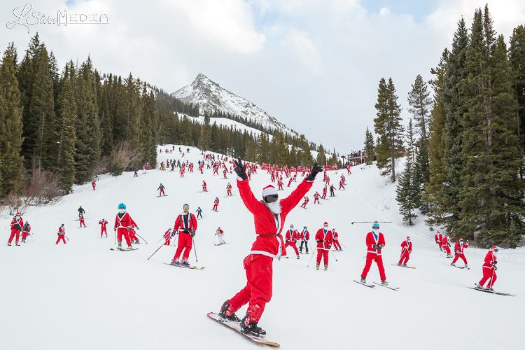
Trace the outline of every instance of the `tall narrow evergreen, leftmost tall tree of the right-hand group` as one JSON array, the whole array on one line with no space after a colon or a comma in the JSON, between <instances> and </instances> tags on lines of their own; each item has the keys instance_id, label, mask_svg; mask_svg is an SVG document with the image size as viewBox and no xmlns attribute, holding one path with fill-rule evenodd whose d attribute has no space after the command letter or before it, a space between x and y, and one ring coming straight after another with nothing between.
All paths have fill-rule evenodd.
<instances>
[{"instance_id":1,"label":"tall narrow evergreen, leftmost tall tree of the right-hand group","mask_svg":"<svg viewBox=\"0 0 525 350\"><path fill-rule=\"evenodd\" d=\"M381 169L381 175L390 175L391 181L395 182L395 159L402 155L403 146L401 108L392 78L388 78L388 84L384 78L379 81L375 108L377 118L374 118L374 131L379 135L376 144L377 167Z\"/></svg>"}]
</instances>

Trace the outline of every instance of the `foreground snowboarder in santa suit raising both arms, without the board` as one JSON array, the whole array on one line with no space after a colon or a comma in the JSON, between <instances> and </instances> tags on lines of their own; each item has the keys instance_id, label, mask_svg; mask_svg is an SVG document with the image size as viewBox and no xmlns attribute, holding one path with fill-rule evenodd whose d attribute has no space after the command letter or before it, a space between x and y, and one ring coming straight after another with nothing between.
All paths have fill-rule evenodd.
<instances>
[{"instance_id":1,"label":"foreground snowboarder in santa suit raising both arms, without the board","mask_svg":"<svg viewBox=\"0 0 525 350\"><path fill-rule=\"evenodd\" d=\"M281 232L286 216L306 195L316 175L322 171L323 168L315 164L310 174L283 200L279 200L273 186L266 186L262 190L262 201L258 201L248 183L246 165L240 159L235 162L237 187L244 205L253 214L257 239L251 247L250 254L244 258L248 280L246 286L223 303L219 315L228 321L238 322L239 318L235 312L248 303L246 316L239 324L242 332L255 336L266 334L266 331L258 326L258 322L266 303L272 298L272 262L274 258L281 258Z\"/></svg>"}]
</instances>

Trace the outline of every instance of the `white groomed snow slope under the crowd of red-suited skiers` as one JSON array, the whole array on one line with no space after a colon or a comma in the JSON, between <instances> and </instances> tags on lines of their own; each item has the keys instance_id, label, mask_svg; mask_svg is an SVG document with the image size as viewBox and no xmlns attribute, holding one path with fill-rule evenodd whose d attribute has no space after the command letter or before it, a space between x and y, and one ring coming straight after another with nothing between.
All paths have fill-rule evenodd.
<instances>
[{"instance_id":1,"label":"white groomed snow slope under the crowd of red-suited skiers","mask_svg":"<svg viewBox=\"0 0 525 350\"><path fill-rule=\"evenodd\" d=\"M179 159L178 147L166 158ZM186 146L183 146L186 149ZM197 162L200 152L191 148L184 159ZM195 167L196 168L196 167ZM148 171L134 179L133 173L102 176L97 190L90 184L76 186L74 193L54 205L31 208L23 218L32 235L22 246L7 246L10 217L0 218L0 349L256 349L241 335L209 320L208 311L244 287L242 260L255 239L253 218L238 195L235 174L230 174L235 196L224 197L228 183L220 176L186 172ZM346 172L344 172L346 175ZM336 184L342 172L331 172ZM465 249L470 270L449 266L450 260L435 246L433 232L419 222L407 228L400 222L395 186L379 176L377 168L353 167L347 190L314 205L313 194L322 188L322 175L308 193L307 210L297 207L285 228L307 225L311 235L328 221L339 232L344 251L330 253L327 272L307 263L311 255L274 262L272 301L260 325L267 339L282 349L523 349L521 316L525 310L523 277L525 250L500 250L496 290L517 294L505 297L470 290L482 276L486 250ZM202 180L209 193L200 193ZM167 197L156 197L159 183ZM251 187L256 197L269 183L265 172L255 174ZM297 186L279 193L284 197ZM336 186L337 187L337 186ZM211 211L219 197L218 213ZM139 235L149 244L130 252L110 251L113 222L120 202L139 225ZM166 246L147 260L155 244L172 227L183 203L204 210L198 222L190 261L204 270L165 265L175 247ZM77 209L85 209L87 228L78 228ZM108 239L100 239L98 221L109 221ZM383 258L391 286L366 288L359 279L365 263L365 234L370 224L351 221L393 221L382 224L386 238ZM69 241L55 245L57 229L66 225ZM214 246L220 226L228 244ZM400 243L412 237L409 265L392 266ZM313 237L311 242L313 242ZM173 242L172 242L173 243ZM314 246L314 244L311 244ZM462 265L458 262L458 265ZM367 281L379 281L377 267ZM243 308L238 315L244 316Z\"/></svg>"}]
</instances>

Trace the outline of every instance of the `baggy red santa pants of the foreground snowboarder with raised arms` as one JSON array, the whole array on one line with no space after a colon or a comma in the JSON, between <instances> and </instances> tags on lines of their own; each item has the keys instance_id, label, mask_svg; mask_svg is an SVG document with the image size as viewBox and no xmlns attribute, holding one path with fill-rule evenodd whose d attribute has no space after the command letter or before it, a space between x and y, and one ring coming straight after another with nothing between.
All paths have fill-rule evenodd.
<instances>
[{"instance_id":1,"label":"baggy red santa pants of the foreground snowboarder with raised arms","mask_svg":"<svg viewBox=\"0 0 525 350\"><path fill-rule=\"evenodd\" d=\"M248 282L239 293L232 297L229 314L235 313L244 304L248 304L246 314L248 323L258 322L265 305L272 299L272 258L266 255L251 254L244 258L244 269Z\"/></svg>"}]
</instances>

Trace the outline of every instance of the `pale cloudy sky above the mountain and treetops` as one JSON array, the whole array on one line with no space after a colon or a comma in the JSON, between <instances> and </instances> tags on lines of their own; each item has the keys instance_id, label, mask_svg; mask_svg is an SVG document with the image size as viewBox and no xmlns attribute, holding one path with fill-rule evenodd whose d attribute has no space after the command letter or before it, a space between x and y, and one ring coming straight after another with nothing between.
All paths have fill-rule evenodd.
<instances>
[{"instance_id":1,"label":"pale cloudy sky above the mountain and treetops","mask_svg":"<svg viewBox=\"0 0 525 350\"><path fill-rule=\"evenodd\" d=\"M523 0L47 0L31 12L105 13L109 24L8 25L26 3L0 2L0 50L14 41L21 58L38 31L61 69L89 54L99 71L131 71L169 92L202 72L341 153L373 130L381 77L393 78L408 120L410 85L417 74L431 78L462 15L470 26L489 3L507 41L525 22Z\"/></svg>"}]
</instances>

